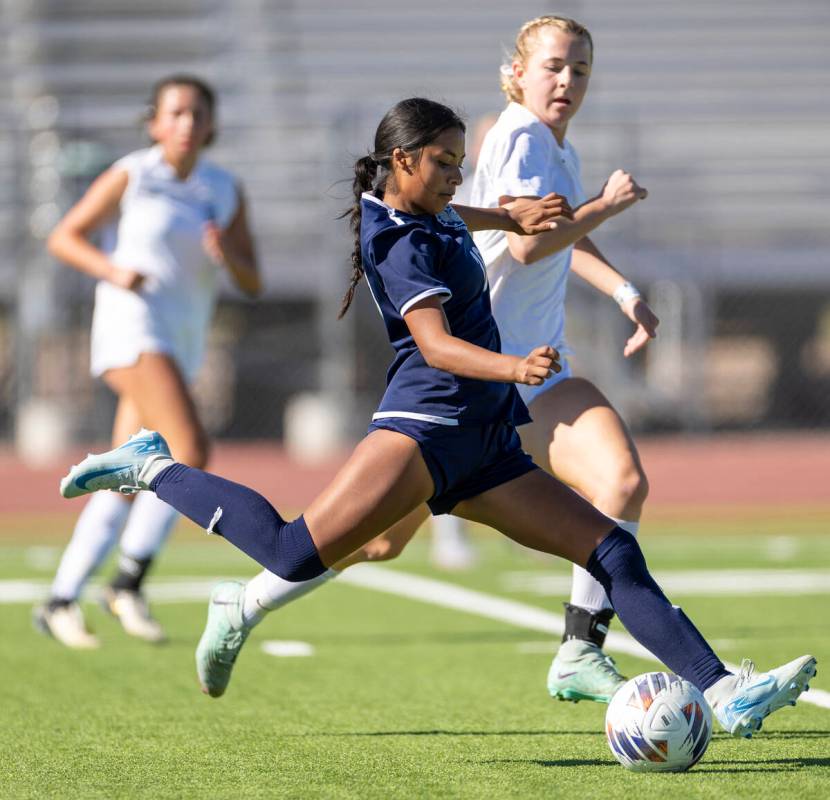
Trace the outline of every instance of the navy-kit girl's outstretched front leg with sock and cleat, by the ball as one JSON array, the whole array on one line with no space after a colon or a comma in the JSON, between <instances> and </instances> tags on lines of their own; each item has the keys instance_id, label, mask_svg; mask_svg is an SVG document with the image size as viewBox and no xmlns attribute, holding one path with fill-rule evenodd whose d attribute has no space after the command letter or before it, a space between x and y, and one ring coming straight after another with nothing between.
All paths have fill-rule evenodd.
<instances>
[{"instance_id":1,"label":"navy-kit girl's outstretched front leg with sock and cleat, by the ball","mask_svg":"<svg viewBox=\"0 0 830 800\"><path fill-rule=\"evenodd\" d=\"M631 535L619 527L608 532L613 522L575 494L568 496L569 491L537 470L454 510L520 544L589 569L602 580L634 638L704 692L718 721L733 736L750 737L769 714L795 705L816 674L815 658L801 656L761 674L746 661L740 674L729 673L682 609L654 582Z\"/></svg>"}]
</instances>

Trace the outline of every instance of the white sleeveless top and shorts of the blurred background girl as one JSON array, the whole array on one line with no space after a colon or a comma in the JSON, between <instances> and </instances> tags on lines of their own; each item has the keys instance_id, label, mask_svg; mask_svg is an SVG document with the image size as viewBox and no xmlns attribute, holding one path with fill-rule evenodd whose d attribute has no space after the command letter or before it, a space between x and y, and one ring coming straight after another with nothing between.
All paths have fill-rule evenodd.
<instances>
[{"instance_id":1,"label":"white sleeveless top and shorts of the blurred background girl","mask_svg":"<svg viewBox=\"0 0 830 800\"><path fill-rule=\"evenodd\" d=\"M202 247L204 226L230 224L239 205L236 182L204 159L181 180L158 146L130 153L114 168L129 179L103 249L115 264L146 278L138 292L107 281L96 287L92 374L161 352L193 380L216 299L217 267Z\"/></svg>"}]
</instances>

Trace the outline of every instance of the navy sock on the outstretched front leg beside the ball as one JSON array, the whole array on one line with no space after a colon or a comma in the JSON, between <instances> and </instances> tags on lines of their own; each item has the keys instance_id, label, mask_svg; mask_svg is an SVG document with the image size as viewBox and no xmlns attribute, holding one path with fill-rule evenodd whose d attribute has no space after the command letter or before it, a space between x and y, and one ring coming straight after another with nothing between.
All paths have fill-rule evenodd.
<instances>
[{"instance_id":1,"label":"navy sock on the outstretched front leg beside the ball","mask_svg":"<svg viewBox=\"0 0 830 800\"><path fill-rule=\"evenodd\" d=\"M600 542L586 566L603 586L628 632L669 669L708 689L725 675L723 662L648 571L637 540L615 528Z\"/></svg>"}]
</instances>

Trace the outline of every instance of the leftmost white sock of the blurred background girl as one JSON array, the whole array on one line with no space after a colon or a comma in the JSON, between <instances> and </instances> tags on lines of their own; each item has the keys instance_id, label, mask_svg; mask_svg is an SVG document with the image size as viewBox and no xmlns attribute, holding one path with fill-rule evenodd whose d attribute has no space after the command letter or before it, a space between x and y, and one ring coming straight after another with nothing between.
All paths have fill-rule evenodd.
<instances>
[{"instance_id":1,"label":"leftmost white sock of the blurred background girl","mask_svg":"<svg viewBox=\"0 0 830 800\"><path fill-rule=\"evenodd\" d=\"M84 506L52 582L52 597L77 600L89 576L118 541L130 502L117 492L96 492Z\"/></svg>"}]
</instances>

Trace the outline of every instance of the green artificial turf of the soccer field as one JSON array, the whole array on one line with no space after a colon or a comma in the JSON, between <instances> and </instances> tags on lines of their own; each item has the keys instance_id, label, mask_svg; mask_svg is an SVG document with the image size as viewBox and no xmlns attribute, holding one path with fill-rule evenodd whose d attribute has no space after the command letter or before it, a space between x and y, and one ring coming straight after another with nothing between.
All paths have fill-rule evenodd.
<instances>
[{"instance_id":1,"label":"green artificial turf of the soccer field","mask_svg":"<svg viewBox=\"0 0 830 800\"><path fill-rule=\"evenodd\" d=\"M46 585L55 541L41 547L16 524L14 544L0 544L0 578ZM771 543L781 537L792 541ZM394 568L561 613L564 596L506 588L504 576L566 574L566 565L491 534L475 539L471 572L435 571L423 537ZM656 571L830 569L826 539L798 526L753 537L710 525L643 541ZM254 572L227 543L187 528L151 580ZM763 669L814 651L813 685L828 690L829 598L680 601L729 660L751 656ZM84 608L99 651L62 648L32 630L28 603L0 604L2 798L830 796L830 709L784 709L752 741L717 733L686 774L628 773L605 743L604 706L547 697L550 637L485 617L334 582L260 625L214 700L198 691L193 666L203 600L155 606L170 634L158 647L128 639L92 602ZM270 639L315 652L275 658L261 647ZM657 668L617 660L629 675Z\"/></svg>"}]
</instances>

